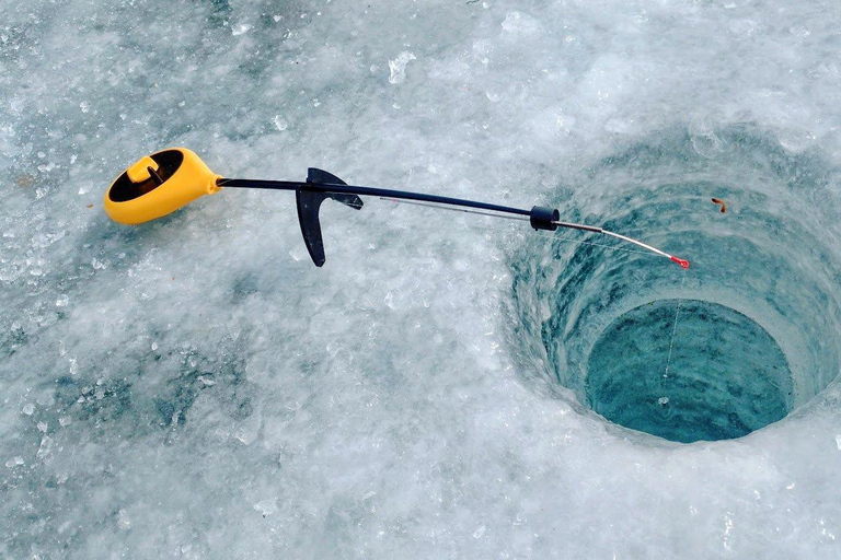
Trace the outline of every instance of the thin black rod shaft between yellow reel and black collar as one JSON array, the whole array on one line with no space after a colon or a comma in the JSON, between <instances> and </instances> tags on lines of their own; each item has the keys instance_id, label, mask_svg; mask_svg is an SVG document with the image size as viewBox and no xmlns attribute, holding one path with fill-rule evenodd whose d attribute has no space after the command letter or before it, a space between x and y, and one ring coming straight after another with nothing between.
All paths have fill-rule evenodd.
<instances>
[{"instance_id":1,"label":"thin black rod shaft between yellow reel and black collar","mask_svg":"<svg viewBox=\"0 0 841 560\"><path fill-rule=\"evenodd\" d=\"M465 208L479 208L481 210L492 210L494 212L504 212L518 215L530 215L530 210L511 208L507 206L488 205L486 202L476 202L475 200L464 200L461 198L439 197L437 195L425 195L423 192L410 192L407 190L391 190L375 187L358 187L355 185L338 185L332 183L301 183L292 180L258 180L258 179L229 179L221 178L217 180L220 187L234 188L268 188L275 190L297 190L307 188L320 192L347 192L353 195L367 195L372 197L401 198L404 200L420 200L424 202L435 202L438 205L461 206Z\"/></svg>"}]
</instances>

